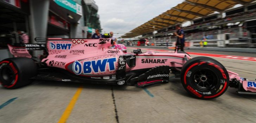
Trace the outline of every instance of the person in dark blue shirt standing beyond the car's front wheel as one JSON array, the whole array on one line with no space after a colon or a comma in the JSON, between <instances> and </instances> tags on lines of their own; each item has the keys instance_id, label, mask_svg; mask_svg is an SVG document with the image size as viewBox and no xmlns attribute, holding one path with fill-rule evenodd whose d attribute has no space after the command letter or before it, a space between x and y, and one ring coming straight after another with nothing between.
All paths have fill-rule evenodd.
<instances>
[{"instance_id":1,"label":"person in dark blue shirt standing beyond the car's front wheel","mask_svg":"<svg viewBox=\"0 0 256 123\"><path fill-rule=\"evenodd\" d=\"M177 31L174 33L174 35L177 37L175 51L176 51L176 48L178 45L180 46L180 51L184 51L183 48L184 48L184 43L185 43L185 37L184 37L184 31L181 28L181 24L177 24L176 29L177 29ZM178 48L178 50L179 50L179 48Z\"/></svg>"}]
</instances>

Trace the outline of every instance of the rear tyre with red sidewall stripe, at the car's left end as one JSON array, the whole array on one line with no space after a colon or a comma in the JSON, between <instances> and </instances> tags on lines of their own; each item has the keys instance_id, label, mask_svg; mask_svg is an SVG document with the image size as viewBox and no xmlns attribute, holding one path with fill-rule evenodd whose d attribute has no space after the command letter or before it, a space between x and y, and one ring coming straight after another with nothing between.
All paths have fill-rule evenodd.
<instances>
[{"instance_id":1,"label":"rear tyre with red sidewall stripe, at the car's left end","mask_svg":"<svg viewBox=\"0 0 256 123\"><path fill-rule=\"evenodd\" d=\"M0 83L4 88L15 89L30 84L37 75L37 65L30 58L8 58L0 62Z\"/></svg>"}]
</instances>

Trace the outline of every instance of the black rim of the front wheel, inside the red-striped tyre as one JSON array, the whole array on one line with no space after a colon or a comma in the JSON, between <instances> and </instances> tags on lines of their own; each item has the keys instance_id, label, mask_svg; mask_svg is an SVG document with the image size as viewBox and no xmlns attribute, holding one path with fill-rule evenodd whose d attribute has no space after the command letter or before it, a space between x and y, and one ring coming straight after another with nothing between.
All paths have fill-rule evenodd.
<instances>
[{"instance_id":1,"label":"black rim of the front wheel, inside the red-striped tyre","mask_svg":"<svg viewBox=\"0 0 256 123\"><path fill-rule=\"evenodd\" d=\"M192 84L200 91L210 91L217 86L218 77L208 68L198 69L192 75Z\"/></svg>"}]
</instances>

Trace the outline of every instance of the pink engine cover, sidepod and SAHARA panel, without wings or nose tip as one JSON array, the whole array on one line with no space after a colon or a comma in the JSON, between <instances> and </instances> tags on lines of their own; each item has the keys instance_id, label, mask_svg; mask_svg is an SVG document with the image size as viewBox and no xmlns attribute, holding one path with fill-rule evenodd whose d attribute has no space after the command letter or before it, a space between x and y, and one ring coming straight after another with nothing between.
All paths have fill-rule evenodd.
<instances>
[{"instance_id":1,"label":"pink engine cover, sidepod and SAHARA panel, without wings or nose tip","mask_svg":"<svg viewBox=\"0 0 256 123\"><path fill-rule=\"evenodd\" d=\"M42 61L46 61L48 66L58 67L61 69L65 69L74 73L73 69L71 69L71 64L73 62L78 61L79 63L83 64L84 62L88 61L97 61L103 60L108 58L116 58L115 62L115 70L110 70L108 63L106 64L104 72L94 72L92 71L89 74L79 74L80 76L106 76L106 75L114 75L116 73L118 67L118 60L120 55L125 55L119 49L111 49L111 39L107 39L105 44L98 44L102 39L62 39L62 38L49 38L47 41L47 49L49 52L49 56ZM77 43L78 41L78 43ZM81 43L82 42L82 43ZM57 50L57 44L66 45L66 49ZM68 47L70 46L70 49ZM54 47L55 46L55 47ZM74 51L75 50L75 51ZM168 66L175 66L175 67L182 67L181 64L171 64L170 62L178 62L178 63L185 63L183 60L184 55L183 53L154 53L153 51L148 51L142 54L133 54L136 56L136 66L130 68L126 65L126 71L137 70L137 69L145 69L145 68L152 68L155 66L160 65L168 65ZM190 59L189 56L187 56ZM162 63L145 63L142 64L142 59L159 59ZM54 61L51 62L51 61ZM51 62L51 64L50 64ZM56 63L57 62L57 63ZM53 63L53 64L52 64ZM65 65L63 65L65 64ZM171 65L170 65L171 64ZM82 72L83 73L83 72Z\"/></svg>"}]
</instances>

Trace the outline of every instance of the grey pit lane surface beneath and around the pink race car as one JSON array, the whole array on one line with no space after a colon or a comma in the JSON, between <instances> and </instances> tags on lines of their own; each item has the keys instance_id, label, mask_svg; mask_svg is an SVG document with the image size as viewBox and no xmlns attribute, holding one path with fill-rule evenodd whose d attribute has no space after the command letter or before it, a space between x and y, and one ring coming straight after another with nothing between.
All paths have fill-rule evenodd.
<instances>
[{"instance_id":1,"label":"grey pit lane surface beneath and around the pink race car","mask_svg":"<svg viewBox=\"0 0 256 123\"><path fill-rule=\"evenodd\" d=\"M186 51L256 57L252 53ZM256 78L256 62L214 59L242 77ZM0 123L57 123L79 86L83 90L67 123L115 123L116 116L120 123L256 121L256 95L238 95L229 88L217 99L204 101L188 95L179 78L170 78L169 83L146 88L51 81L35 81L14 90L0 87L0 105L17 97L0 108Z\"/></svg>"}]
</instances>

